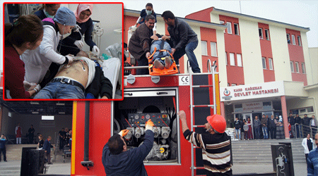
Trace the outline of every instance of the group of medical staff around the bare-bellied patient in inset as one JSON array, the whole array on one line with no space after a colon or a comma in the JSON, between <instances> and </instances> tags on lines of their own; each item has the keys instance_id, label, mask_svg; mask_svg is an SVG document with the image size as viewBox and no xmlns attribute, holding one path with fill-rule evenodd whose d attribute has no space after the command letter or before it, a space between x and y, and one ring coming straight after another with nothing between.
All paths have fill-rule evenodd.
<instances>
[{"instance_id":1,"label":"group of medical staff around the bare-bellied patient in inset","mask_svg":"<svg viewBox=\"0 0 318 176\"><path fill-rule=\"evenodd\" d=\"M86 44L100 53L91 39L92 13L93 4L78 4L74 12L43 4L35 15L6 23L5 98L85 99L89 94L87 99L112 99L112 83L81 50L85 34Z\"/></svg>"}]
</instances>

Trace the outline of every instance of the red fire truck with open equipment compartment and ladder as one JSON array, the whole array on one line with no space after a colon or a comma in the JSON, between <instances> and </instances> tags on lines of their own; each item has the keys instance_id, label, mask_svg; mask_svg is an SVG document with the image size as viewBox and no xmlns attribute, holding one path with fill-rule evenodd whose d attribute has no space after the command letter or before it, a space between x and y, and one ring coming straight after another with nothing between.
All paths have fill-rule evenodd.
<instances>
[{"instance_id":1,"label":"red fire truck with open equipment compartment and ladder","mask_svg":"<svg viewBox=\"0 0 318 176\"><path fill-rule=\"evenodd\" d=\"M201 149L184 139L177 112L187 113L196 132L204 132L206 116L220 114L216 64L207 65L208 73L124 76L123 101L74 101L71 175L105 175L108 139L127 129L128 148L138 147L150 118L155 139L144 161L148 175L205 175Z\"/></svg>"}]
</instances>

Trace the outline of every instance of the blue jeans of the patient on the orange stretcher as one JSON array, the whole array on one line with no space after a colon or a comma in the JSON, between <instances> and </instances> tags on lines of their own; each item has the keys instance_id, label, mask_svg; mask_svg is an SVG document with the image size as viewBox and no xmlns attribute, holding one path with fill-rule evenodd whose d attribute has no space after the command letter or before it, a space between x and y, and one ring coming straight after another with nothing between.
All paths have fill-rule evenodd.
<instances>
[{"instance_id":1,"label":"blue jeans of the patient on the orange stretcher","mask_svg":"<svg viewBox=\"0 0 318 176\"><path fill-rule=\"evenodd\" d=\"M160 45L161 45L161 40L156 40L155 42L153 42L153 44L151 44L151 54L153 54L153 51L155 51L155 48L156 48L156 51L155 51L155 54L153 54L153 58L155 58L155 60L158 60L160 61L160 63L162 63L163 65L165 65L165 60L162 60L161 58L164 58L165 56L170 56L170 53L171 53L171 47L170 47L170 44L168 44L167 42L164 43L163 45L163 49L167 50L167 51L164 51L160 54ZM160 54L160 56L159 56ZM170 60L170 63L172 64L172 61Z\"/></svg>"}]
</instances>

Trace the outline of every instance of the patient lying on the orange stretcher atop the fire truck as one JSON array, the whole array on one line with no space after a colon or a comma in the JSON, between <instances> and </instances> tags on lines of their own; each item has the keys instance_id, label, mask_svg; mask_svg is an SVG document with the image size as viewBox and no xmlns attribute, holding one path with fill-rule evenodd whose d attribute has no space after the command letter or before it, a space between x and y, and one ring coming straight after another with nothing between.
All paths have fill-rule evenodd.
<instances>
[{"instance_id":1,"label":"patient lying on the orange stretcher atop the fire truck","mask_svg":"<svg viewBox=\"0 0 318 176\"><path fill-rule=\"evenodd\" d=\"M165 51L160 51L165 50ZM155 51L155 54L153 52ZM151 54L153 54L153 65L155 68L170 68L172 65L172 59L170 58L171 47L167 41L164 40L153 40L151 44Z\"/></svg>"}]
</instances>

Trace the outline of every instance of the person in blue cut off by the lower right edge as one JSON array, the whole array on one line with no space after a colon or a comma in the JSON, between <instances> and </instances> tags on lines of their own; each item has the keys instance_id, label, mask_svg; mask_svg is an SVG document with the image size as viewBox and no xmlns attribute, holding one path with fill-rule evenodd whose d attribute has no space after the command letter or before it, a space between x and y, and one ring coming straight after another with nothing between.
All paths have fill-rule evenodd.
<instances>
[{"instance_id":1,"label":"person in blue cut off by the lower right edge","mask_svg":"<svg viewBox=\"0 0 318 176\"><path fill-rule=\"evenodd\" d=\"M310 151L307 156L307 175L318 175L318 133L314 135L316 149Z\"/></svg>"}]
</instances>

